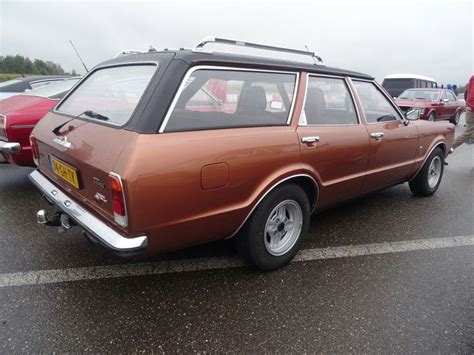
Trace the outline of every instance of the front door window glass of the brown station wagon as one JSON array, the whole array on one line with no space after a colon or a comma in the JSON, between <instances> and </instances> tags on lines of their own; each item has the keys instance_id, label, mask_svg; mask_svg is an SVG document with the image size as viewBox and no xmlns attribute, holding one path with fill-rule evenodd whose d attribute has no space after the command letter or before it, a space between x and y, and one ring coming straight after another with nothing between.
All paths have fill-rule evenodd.
<instances>
[{"instance_id":1,"label":"front door window glass of the brown station wagon","mask_svg":"<svg viewBox=\"0 0 474 355\"><path fill-rule=\"evenodd\" d=\"M354 81L367 123L394 121L400 115L373 83Z\"/></svg>"}]
</instances>

